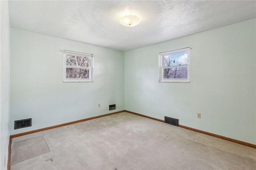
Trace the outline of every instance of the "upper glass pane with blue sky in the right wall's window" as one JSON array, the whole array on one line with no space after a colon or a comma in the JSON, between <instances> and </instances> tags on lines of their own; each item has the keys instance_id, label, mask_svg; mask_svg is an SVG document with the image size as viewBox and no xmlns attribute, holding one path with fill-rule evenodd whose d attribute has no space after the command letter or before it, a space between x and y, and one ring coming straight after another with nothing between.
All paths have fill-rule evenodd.
<instances>
[{"instance_id":1,"label":"upper glass pane with blue sky in the right wall's window","mask_svg":"<svg viewBox=\"0 0 256 170\"><path fill-rule=\"evenodd\" d=\"M164 55L164 66L188 64L188 52Z\"/></svg>"}]
</instances>

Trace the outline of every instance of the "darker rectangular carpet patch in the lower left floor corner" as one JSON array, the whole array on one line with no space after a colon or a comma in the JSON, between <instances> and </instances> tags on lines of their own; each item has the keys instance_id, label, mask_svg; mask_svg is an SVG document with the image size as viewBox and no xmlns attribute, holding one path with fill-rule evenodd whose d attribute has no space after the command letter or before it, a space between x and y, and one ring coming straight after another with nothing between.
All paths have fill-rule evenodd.
<instances>
[{"instance_id":1,"label":"darker rectangular carpet patch in the lower left floor corner","mask_svg":"<svg viewBox=\"0 0 256 170\"><path fill-rule=\"evenodd\" d=\"M50 152L44 137L37 136L12 143L11 164Z\"/></svg>"}]
</instances>

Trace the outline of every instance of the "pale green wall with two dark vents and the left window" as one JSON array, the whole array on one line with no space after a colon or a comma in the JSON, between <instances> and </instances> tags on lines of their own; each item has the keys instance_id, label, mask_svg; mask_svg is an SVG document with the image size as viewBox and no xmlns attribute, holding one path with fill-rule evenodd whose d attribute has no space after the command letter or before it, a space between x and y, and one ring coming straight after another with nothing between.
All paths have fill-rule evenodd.
<instances>
[{"instance_id":1,"label":"pale green wall with two dark vents and the left window","mask_svg":"<svg viewBox=\"0 0 256 170\"><path fill-rule=\"evenodd\" d=\"M124 110L123 51L16 29L10 45L11 134ZM93 83L63 83L61 49L95 55ZM28 118L32 127L14 130L15 120Z\"/></svg>"}]
</instances>

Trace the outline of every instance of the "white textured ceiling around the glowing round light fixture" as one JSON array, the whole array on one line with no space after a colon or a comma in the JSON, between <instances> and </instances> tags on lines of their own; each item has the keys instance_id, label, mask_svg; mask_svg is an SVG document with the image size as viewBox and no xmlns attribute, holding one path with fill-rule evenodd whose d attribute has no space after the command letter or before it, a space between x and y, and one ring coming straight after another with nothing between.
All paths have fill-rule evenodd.
<instances>
[{"instance_id":1,"label":"white textured ceiling around the glowing round light fixture","mask_svg":"<svg viewBox=\"0 0 256 170\"><path fill-rule=\"evenodd\" d=\"M127 51L256 18L256 1L9 1L10 26ZM119 18L141 23L124 27Z\"/></svg>"}]
</instances>

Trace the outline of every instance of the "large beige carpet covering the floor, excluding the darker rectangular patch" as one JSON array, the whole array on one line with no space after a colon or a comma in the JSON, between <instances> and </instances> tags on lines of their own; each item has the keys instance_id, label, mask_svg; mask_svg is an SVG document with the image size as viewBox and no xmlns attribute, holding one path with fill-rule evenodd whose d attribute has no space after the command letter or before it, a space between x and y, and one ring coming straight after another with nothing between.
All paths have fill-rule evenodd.
<instances>
[{"instance_id":1,"label":"large beige carpet covering the floor, excluding the darker rectangular patch","mask_svg":"<svg viewBox=\"0 0 256 170\"><path fill-rule=\"evenodd\" d=\"M256 168L254 148L130 113L20 136L12 143L41 135L51 152L11 164L11 170ZM12 144L12 158L16 149Z\"/></svg>"}]
</instances>

